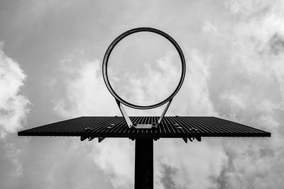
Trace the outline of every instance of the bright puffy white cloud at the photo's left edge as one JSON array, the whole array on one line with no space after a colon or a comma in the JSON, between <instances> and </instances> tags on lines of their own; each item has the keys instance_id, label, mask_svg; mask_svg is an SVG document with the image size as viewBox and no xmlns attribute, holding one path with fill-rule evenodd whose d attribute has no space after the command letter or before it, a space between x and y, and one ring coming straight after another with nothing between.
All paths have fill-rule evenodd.
<instances>
[{"instance_id":1,"label":"bright puffy white cloud at the photo's left edge","mask_svg":"<svg viewBox=\"0 0 284 189\"><path fill-rule=\"evenodd\" d=\"M28 98L19 93L26 74L19 64L7 57L0 44L0 136L16 132L26 123Z\"/></svg>"}]
</instances>

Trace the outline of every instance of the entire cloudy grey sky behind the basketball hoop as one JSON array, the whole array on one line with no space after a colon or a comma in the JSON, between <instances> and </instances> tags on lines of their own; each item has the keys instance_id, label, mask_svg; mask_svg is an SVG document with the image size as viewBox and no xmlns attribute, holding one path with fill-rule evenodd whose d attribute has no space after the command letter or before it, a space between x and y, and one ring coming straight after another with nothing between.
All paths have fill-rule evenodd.
<instances>
[{"instance_id":1,"label":"entire cloudy grey sky behind the basketball hoop","mask_svg":"<svg viewBox=\"0 0 284 189\"><path fill-rule=\"evenodd\" d=\"M152 27L173 37L186 76L167 115L216 116L270 138L154 143L154 187L283 188L284 1L0 1L0 188L133 188L134 143L18 137L83 115L120 115L102 78L110 43ZM180 76L175 49L137 33L111 54L114 89L152 104ZM130 115L160 115L163 107Z\"/></svg>"}]
</instances>

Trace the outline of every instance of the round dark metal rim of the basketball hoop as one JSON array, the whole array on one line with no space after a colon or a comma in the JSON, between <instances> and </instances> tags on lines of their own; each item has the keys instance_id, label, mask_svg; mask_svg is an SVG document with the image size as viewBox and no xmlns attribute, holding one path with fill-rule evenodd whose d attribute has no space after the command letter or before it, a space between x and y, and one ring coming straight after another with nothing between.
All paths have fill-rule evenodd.
<instances>
[{"instance_id":1,"label":"round dark metal rim of the basketball hoop","mask_svg":"<svg viewBox=\"0 0 284 189\"><path fill-rule=\"evenodd\" d=\"M131 35L133 33L138 33L138 32L151 32L151 33L157 33L159 35L162 35L164 38L169 40L175 46L176 50L178 50L178 54L180 55L180 60L181 60L181 63L182 63L182 74L180 76L180 82L178 83L177 88L175 88L175 91L173 91L173 93L168 98L166 98L164 101L161 101L160 103L156 103L156 104L153 104L153 105L135 105L135 104L129 103L127 101L124 101L124 99L122 99L119 95L116 94L116 92L114 92L114 89L111 87L111 84L109 83L109 78L107 76L107 64L108 64L108 61L109 61L109 55L111 55L111 51L114 49L114 47L117 45L117 43L119 43L119 41L121 41L123 38L126 38L126 36L128 36L128 35ZM167 103L168 101L170 101L171 99L173 99L173 97L180 90L180 87L182 86L182 83L185 79L185 57L182 53L180 46L178 45L178 42L175 42L175 40L173 38L171 38L170 35L164 33L163 31L157 30L155 28L134 28L134 29L126 31L125 33L122 33L113 42L111 42L111 45L109 45L109 48L107 49L107 52L104 55L104 61L102 63L102 75L104 77L104 83L106 84L107 88L109 89L109 92L119 102L121 102L124 105L127 105L131 108L136 108L136 109L157 108L158 106L163 105L163 104Z\"/></svg>"}]
</instances>

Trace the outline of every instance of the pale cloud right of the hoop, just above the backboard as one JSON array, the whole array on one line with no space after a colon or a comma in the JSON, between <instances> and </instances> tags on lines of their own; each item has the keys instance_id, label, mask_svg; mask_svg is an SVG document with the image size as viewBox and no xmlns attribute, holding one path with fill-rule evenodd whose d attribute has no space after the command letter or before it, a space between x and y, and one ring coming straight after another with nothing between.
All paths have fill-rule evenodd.
<instances>
[{"instance_id":1,"label":"pale cloud right of the hoop, just above the backboard","mask_svg":"<svg viewBox=\"0 0 284 189\"><path fill-rule=\"evenodd\" d=\"M171 114L217 115L209 98L210 58L211 55L202 55L198 50L185 51L185 81L174 98Z\"/></svg>"}]
</instances>

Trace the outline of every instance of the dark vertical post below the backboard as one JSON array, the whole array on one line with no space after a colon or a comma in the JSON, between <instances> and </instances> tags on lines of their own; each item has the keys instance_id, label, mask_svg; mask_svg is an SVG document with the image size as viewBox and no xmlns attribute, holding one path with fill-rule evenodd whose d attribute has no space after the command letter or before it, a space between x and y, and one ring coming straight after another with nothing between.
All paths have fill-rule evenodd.
<instances>
[{"instance_id":1,"label":"dark vertical post below the backboard","mask_svg":"<svg viewBox=\"0 0 284 189\"><path fill-rule=\"evenodd\" d=\"M134 189L153 189L153 139L135 140Z\"/></svg>"}]
</instances>

